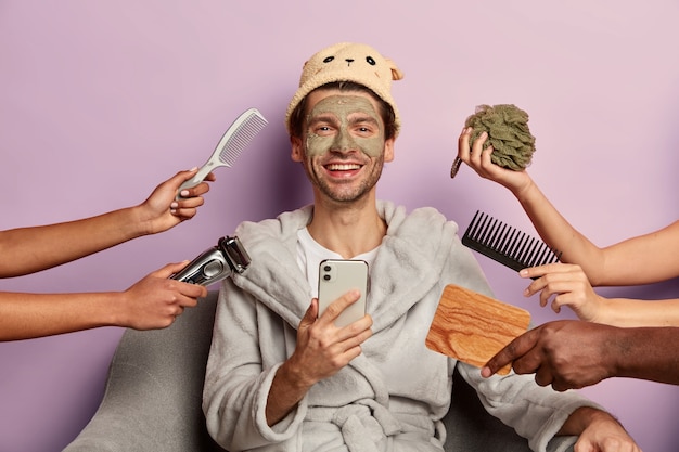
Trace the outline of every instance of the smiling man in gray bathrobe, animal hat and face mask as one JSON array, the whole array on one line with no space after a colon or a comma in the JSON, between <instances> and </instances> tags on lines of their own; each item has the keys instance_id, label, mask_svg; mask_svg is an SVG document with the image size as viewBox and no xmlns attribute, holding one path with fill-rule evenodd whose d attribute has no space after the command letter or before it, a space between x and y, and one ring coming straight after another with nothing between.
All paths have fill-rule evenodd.
<instances>
[{"instance_id":1,"label":"smiling man in gray bathrobe, animal hat and face mask","mask_svg":"<svg viewBox=\"0 0 679 452\"><path fill-rule=\"evenodd\" d=\"M483 378L426 348L446 285L492 294L454 222L376 199L400 128L390 83L401 77L364 44L335 44L305 64L286 125L313 204L236 230L252 264L220 290L203 398L210 435L231 452L443 451L460 372L535 451L556 435L582 450L638 451L577 393L523 375ZM344 327L334 321L356 290L318 315L318 267L330 258L370 266L367 314Z\"/></svg>"}]
</instances>

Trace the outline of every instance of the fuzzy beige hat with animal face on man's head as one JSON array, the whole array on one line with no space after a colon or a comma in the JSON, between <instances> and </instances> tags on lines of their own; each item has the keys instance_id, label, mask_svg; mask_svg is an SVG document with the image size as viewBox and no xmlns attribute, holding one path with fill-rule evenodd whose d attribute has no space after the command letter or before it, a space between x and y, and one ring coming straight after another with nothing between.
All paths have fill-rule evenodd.
<instances>
[{"instance_id":1,"label":"fuzzy beige hat with animal face on man's head","mask_svg":"<svg viewBox=\"0 0 679 452\"><path fill-rule=\"evenodd\" d=\"M400 115L392 98L392 80L400 80L403 73L396 64L382 56L370 46L341 42L328 47L304 64L299 89L290 101L285 113L285 126L290 132L290 115L297 104L316 88L334 81L354 81L370 88L392 105L396 115L396 133L400 130Z\"/></svg>"}]
</instances>

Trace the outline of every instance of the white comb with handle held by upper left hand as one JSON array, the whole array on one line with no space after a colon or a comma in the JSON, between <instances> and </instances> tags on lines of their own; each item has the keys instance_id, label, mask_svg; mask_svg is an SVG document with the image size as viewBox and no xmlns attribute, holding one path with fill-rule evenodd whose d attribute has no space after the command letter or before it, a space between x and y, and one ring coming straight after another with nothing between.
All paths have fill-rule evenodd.
<instances>
[{"instance_id":1,"label":"white comb with handle held by upper left hand","mask_svg":"<svg viewBox=\"0 0 679 452\"><path fill-rule=\"evenodd\" d=\"M198 169L194 177L179 188L177 199L180 199L182 190L191 189L203 182L205 177L220 166L232 167L241 152L267 125L267 120L257 108L249 108L241 114L217 143L217 147L209 159Z\"/></svg>"}]
</instances>

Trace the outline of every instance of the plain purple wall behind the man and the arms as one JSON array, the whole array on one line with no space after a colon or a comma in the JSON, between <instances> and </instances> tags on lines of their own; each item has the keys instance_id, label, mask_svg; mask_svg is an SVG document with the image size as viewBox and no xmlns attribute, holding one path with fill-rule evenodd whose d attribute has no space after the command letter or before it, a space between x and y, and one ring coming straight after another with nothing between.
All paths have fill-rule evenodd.
<instances>
[{"instance_id":1,"label":"plain purple wall behind the man and the arms","mask_svg":"<svg viewBox=\"0 0 679 452\"><path fill-rule=\"evenodd\" d=\"M403 2L406 3L406 2ZM464 229L476 209L534 233L504 189L448 171L478 104L530 115L530 173L599 245L678 217L679 63L674 1L591 2L0 1L0 229L93 216L143 201L202 165L226 127L257 107L270 125L197 217L2 290L121 290L170 261L310 201L289 157L286 103L320 48L364 41L394 59L403 130L379 195L435 206ZM1 258L1 257L0 257ZM479 256L498 298L541 323L572 317L522 296L527 283ZM676 297L672 282L608 288ZM123 331L0 344L0 450L57 451L99 404ZM677 347L668 344L667 347ZM679 388L612 379L585 389L646 451L676 450Z\"/></svg>"}]
</instances>

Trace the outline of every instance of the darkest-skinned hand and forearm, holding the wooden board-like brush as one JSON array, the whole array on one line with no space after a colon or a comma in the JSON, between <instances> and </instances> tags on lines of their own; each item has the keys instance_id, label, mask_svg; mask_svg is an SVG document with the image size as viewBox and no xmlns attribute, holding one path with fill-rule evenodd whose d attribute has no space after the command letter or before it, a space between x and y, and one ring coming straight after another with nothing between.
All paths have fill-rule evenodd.
<instances>
[{"instance_id":1,"label":"darkest-skinned hand and forearm, holding the wooden board-like brush","mask_svg":"<svg viewBox=\"0 0 679 452\"><path fill-rule=\"evenodd\" d=\"M517 374L535 373L540 386L559 391L595 385L610 377L630 377L679 385L679 328L619 328L576 320L545 323L529 330L482 369L488 377L513 363Z\"/></svg>"}]
</instances>

